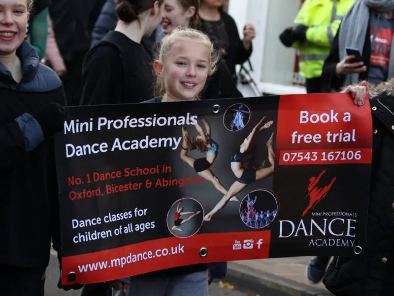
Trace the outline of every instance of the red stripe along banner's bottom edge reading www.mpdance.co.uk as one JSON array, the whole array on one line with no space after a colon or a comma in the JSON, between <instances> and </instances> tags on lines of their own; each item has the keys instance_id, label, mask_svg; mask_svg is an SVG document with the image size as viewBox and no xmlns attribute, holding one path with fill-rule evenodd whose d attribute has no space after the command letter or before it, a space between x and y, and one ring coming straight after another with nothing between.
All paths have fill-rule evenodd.
<instances>
[{"instance_id":1,"label":"red stripe along banner's bottom edge reading www.mpdance.co.uk","mask_svg":"<svg viewBox=\"0 0 394 296\"><path fill-rule=\"evenodd\" d=\"M163 238L62 259L62 285L121 279L171 267L269 258L270 231L198 234ZM205 257L200 250L206 249ZM75 273L69 282L67 275Z\"/></svg>"}]
</instances>

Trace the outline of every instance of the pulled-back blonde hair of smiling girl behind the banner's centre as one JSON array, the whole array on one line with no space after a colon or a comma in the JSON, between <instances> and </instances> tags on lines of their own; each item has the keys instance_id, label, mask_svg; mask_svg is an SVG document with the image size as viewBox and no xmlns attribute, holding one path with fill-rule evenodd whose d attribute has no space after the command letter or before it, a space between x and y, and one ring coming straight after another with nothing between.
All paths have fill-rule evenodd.
<instances>
[{"instance_id":1,"label":"pulled-back blonde hair of smiling girl behind the banner's centre","mask_svg":"<svg viewBox=\"0 0 394 296\"><path fill-rule=\"evenodd\" d=\"M209 37L196 29L177 28L173 30L171 34L166 35L160 43L160 47L156 53L156 60L158 60L164 65L174 44L178 41L186 41L188 39L199 41L209 48L210 50L209 75L214 74L215 71L217 70L217 65L220 60L220 53L217 50L215 50L213 43L211 42ZM165 81L163 77L157 76L154 91L156 97L164 96L166 90L165 90Z\"/></svg>"}]
</instances>

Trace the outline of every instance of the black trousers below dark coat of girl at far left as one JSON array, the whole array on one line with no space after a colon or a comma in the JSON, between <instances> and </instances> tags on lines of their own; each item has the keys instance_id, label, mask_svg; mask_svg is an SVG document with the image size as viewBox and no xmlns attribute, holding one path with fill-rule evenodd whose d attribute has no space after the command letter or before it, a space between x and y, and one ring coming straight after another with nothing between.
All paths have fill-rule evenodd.
<instances>
[{"instance_id":1,"label":"black trousers below dark coat of girl at far left","mask_svg":"<svg viewBox=\"0 0 394 296\"><path fill-rule=\"evenodd\" d=\"M1 296L44 296L44 270L0 264Z\"/></svg>"}]
</instances>

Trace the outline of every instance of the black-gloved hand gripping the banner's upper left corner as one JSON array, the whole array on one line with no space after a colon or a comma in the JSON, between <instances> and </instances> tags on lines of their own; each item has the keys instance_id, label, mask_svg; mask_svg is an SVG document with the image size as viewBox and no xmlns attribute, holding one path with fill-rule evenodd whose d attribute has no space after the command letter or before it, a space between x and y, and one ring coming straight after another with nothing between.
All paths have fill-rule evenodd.
<instances>
[{"instance_id":1,"label":"black-gloved hand gripping the banner's upper left corner","mask_svg":"<svg viewBox=\"0 0 394 296\"><path fill-rule=\"evenodd\" d=\"M57 103L49 103L30 112L41 126L44 135L60 132L64 129L66 111Z\"/></svg>"}]
</instances>

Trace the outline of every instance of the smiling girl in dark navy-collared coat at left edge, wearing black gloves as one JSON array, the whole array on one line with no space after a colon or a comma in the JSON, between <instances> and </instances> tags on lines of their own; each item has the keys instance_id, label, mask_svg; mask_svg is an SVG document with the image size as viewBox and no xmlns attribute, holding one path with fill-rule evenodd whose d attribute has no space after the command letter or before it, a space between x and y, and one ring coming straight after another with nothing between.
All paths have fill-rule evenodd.
<instances>
[{"instance_id":1,"label":"smiling girl in dark navy-collared coat at left edge, wearing black gloves","mask_svg":"<svg viewBox=\"0 0 394 296\"><path fill-rule=\"evenodd\" d=\"M63 129L66 97L25 40L32 2L0 0L0 294L7 296L43 296L51 240L60 251L53 134Z\"/></svg>"}]
</instances>

